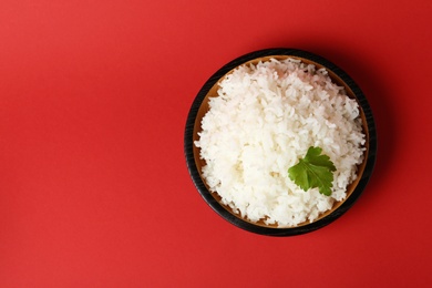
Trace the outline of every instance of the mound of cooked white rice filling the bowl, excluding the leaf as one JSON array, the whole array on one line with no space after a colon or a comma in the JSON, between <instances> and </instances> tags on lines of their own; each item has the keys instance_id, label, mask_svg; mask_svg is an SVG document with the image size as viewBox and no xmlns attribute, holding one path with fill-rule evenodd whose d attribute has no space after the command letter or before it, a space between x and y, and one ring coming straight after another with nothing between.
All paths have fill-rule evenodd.
<instances>
[{"instance_id":1,"label":"mound of cooked white rice filling the bowl, excluding the leaf","mask_svg":"<svg viewBox=\"0 0 432 288\"><path fill-rule=\"evenodd\" d=\"M209 106L195 142L206 162L203 177L241 217L294 227L347 197L364 134L358 103L325 69L295 59L240 65L220 81ZM310 146L337 168L331 196L305 192L288 177Z\"/></svg>"}]
</instances>

